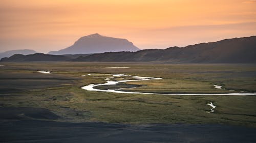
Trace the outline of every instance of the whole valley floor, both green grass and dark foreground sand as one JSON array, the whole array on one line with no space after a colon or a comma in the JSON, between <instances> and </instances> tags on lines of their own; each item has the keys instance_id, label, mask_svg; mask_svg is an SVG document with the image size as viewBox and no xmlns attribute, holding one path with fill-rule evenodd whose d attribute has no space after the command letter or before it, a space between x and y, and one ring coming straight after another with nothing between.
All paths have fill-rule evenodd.
<instances>
[{"instance_id":1,"label":"whole valley floor, both green grass and dark foreground sand","mask_svg":"<svg viewBox=\"0 0 256 143\"><path fill-rule=\"evenodd\" d=\"M0 142L15 142L18 138L24 139L22 142L54 142L53 138L61 142L66 139L66 142L70 139L101 142L97 141L100 136L106 138L105 142L143 142L148 141L146 138L153 142L256 140L252 137L256 127L255 96L210 95L256 92L256 66L252 64L35 62L1 65ZM114 74L162 79L98 88L177 95L81 89L84 85L105 83L107 78L124 80L121 76L113 78ZM178 95L195 93L204 95ZM210 103L216 106L214 112ZM55 131L63 134L53 134ZM77 136L63 139L69 131Z\"/></svg>"}]
</instances>

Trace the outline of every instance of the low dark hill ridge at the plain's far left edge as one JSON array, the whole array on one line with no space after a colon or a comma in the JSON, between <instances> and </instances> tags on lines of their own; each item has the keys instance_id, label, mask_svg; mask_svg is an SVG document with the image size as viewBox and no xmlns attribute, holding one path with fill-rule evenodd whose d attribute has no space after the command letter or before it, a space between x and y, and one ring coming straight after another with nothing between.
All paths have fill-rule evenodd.
<instances>
[{"instance_id":1,"label":"low dark hill ridge at the plain's far left edge","mask_svg":"<svg viewBox=\"0 0 256 143\"><path fill-rule=\"evenodd\" d=\"M35 53L29 55L14 54L10 58L3 58L0 62L41 62L41 61L68 61L71 58L63 55Z\"/></svg>"}]
</instances>

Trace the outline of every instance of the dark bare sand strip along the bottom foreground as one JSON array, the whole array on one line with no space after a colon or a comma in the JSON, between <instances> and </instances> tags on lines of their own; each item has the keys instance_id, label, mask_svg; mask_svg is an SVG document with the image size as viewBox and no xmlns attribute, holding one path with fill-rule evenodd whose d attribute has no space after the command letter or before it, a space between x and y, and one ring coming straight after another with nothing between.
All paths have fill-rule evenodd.
<instances>
[{"instance_id":1,"label":"dark bare sand strip along the bottom foreground","mask_svg":"<svg viewBox=\"0 0 256 143\"><path fill-rule=\"evenodd\" d=\"M256 142L248 127L45 121L58 118L42 108L0 108L0 142Z\"/></svg>"}]
</instances>

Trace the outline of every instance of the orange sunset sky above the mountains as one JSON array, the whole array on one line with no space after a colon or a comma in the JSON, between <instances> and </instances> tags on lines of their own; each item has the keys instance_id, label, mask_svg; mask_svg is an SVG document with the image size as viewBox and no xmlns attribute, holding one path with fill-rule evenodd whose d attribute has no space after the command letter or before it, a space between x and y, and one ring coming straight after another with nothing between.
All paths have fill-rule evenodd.
<instances>
[{"instance_id":1,"label":"orange sunset sky above the mountains","mask_svg":"<svg viewBox=\"0 0 256 143\"><path fill-rule=\"evenodd\" d=\"M47 53L94 33L140 49L256 35L256 0L0 1L0 52Z\"/></svg>"}]
</instances>

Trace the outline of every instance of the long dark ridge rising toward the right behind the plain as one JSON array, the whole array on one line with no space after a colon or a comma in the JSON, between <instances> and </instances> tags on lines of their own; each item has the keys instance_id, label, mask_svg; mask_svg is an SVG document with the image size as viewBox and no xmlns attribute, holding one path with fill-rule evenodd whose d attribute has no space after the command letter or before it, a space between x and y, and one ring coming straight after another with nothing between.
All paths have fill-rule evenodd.
<instances>
[{"instance_id":1,"label":"long dark ridge rising toward the right behind the plain","mask_svg":"<svg viewBox=\"0 0 256 143\"><path fill-rule=\"evenodd\" d=\"M256 63L256 36L225 39L186 47L105 52L78 57L86 62Z\"/></svg>"}]
</instances>

